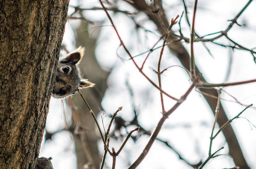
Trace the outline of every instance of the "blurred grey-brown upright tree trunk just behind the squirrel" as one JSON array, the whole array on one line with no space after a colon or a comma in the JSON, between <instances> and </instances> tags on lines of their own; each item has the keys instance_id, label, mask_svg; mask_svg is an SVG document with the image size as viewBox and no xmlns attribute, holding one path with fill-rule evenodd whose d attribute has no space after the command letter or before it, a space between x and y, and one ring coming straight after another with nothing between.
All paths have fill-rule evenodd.
<instances>
[{"instance_id":1,"label":"blurred grey-brown upright tree trunk just behind the squirrel","mask_svg":"<svg viewBox=\"0 0 256 169\"><path fill-rule=\"evenodd\" d=\"M91 38L88 31L84 31L88 29L88 23L82 22L80 27L76 30L77 32L77 46L85 46L85 55L83 60L80 63L81 72L85 78L88 78L92 83L95 83L95 87L87 90L82 90L83 95L86 97L91 109L93 110L95 115L98 115L99 111L102 110L100 104L102 97L107 89L107 77L109 75L108 72L102 70L95 58L94 51L96 46L96 40ZM89 150L91 153L91 157L93 159L94 165L96 169L99 169L99 164L101 162L101 157L99 155L98 150L98 139L99 139L99 131L95 130L95 122L91 116L91 113L88 111L88 108L84 104L81 96L76 94L74 96L74 100L77 105L79 105L79 109L77 109L77 114L79 119L84 127L86 127L85 136L86 142L89 146ZM86 158L81 138L74 137L75 139L75 151L77 156L77 166L78 169L82 169L83 165L88 162ZM99 147L100 149L104 149L104 147Z\"/></svg>"}]
</instances>

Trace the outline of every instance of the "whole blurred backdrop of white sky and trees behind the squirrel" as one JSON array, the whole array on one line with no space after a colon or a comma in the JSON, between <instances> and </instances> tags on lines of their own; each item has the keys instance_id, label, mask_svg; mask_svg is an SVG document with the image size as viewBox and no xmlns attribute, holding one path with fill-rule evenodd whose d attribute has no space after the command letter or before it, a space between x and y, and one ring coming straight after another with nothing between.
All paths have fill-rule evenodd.
<instances>
[{"instance_id":1,"label":"whole blurred backdrop of white sky and trees behind the squirrel","mask_svg":"<svg viewBox=\"0 0 256 169\"><path fill-rule=\"evenodd\" d=\"M171 18L180 15L177 20L179 23L172 28L173 33L181 35L182 32L183 37L190 38L188 23L192 23L194 0L103 2L125 46L132 56L136 56L134 60L137 64L141 66L149 52L152 52L144 64L143 72L158 84L156 71L163 39L157 41L163 32L159 27L161 21L157 23L154 17L165 18L170 24ZM199 0L195 22L197 35L203 37L225 31L231 23L229 20L234 19L247 3L248 0ZM234 24L228 31L231 40L223 36L214 42L194 43L196 66L206 82L231 83L256 79L253 52L256 47L255 8L256 2L253 1L236 18L239 25ZM219 34L204 38L214 38ZM186 67L184 63L189 64L188 59L182 61L182 54L185 50L190 54L190 44L185 38L176 38L177 43L184 47L172 48L173 42L168 42L169 47L164 48L160 69L166 69L161 75L163 90L179 99L191 85L189 74L181 68ZM82 92L97 115L103 133L113 113L123 107L110 130L109 147L115 147L117 151L127 134L140 126L140 131L132 134L116 158L116 169L126 169L142 153L162 117L160 92L140 73L120 46L116 32L98 0L70 0L60 55L65 56L78 46L86 48L80 63L82 76L96 84L94 88ZM230 131L227 134L221 132L213 140L212 152L224 148L217 153L221 155L208 161L204 169L233 168L237 163L256 169L256 83L222 89L222 114L227 119L235 117L248 105L254 105L231 123L230 130L235 135L229 135ZM79 93L71 98L69 101L51 98L39 156L52 157L54 169L90 169L90 160L86 156L89 152L95 168L99 169L104 154L99 131ZM138 169L193 169L205 161L215 119L213 108L217 104L216 96L209 98L212 100L206 100L199 89L193 89L182 105L165 121L157 140ZM166 111L175 103L175 100L164 95ZM72 115L74 112L79 124ZM224 118L223 122L227 119ZM219 127L216 126L214 133ZM238 142L239 147L234 147L232 142ZM84 144L87 144L88 149ZM239 150L242 152L239 157L231 156L238 154L236 151ZM237 161L239 158L245 161ZM107 154L104 169L110 168L112 157Z\"/></svg>"}]
</instances>

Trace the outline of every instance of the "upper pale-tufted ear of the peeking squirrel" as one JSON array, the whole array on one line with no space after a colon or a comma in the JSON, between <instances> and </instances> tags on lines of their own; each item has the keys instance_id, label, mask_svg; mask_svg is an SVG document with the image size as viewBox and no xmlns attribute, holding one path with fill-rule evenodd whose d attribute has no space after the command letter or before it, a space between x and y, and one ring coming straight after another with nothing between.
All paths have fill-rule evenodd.
<instances>
[{"instance_id":1,"label":"upper pale-tufted ear of the peeking squirrel","mask_svg":"<svg viewBox=\"0 0 256 169\"><path fill-rule=\"evenodd\" d=\"M61 59L59 62L77 64L83 58L84 50L84 47L80 46L74 52Z\"/></svg>"}]
</instances>

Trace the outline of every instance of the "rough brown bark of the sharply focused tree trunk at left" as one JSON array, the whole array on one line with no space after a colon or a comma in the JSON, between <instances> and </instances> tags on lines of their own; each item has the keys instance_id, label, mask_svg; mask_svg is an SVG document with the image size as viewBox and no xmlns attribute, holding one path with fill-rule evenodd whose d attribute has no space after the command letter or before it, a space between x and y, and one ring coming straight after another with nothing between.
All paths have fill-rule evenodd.
<instances>
[{"instance_id":1,"label":"rough brown bark of the sharply focused tree trunk at left","mask_svg":"<svg viewBox=\"0 0 256 169\"><path fill-rule=\"evenodd\" d=\"M0 0L0 166L34 169L68 0Z\"/></svg>"}]
</instances>

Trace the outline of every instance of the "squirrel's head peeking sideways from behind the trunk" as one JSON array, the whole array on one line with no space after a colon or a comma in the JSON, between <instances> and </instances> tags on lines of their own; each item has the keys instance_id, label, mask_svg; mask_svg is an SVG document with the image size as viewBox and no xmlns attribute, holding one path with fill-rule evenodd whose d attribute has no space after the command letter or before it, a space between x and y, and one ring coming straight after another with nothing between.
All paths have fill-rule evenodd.
<instances>
[{"instance_id":1,"label":"squirrel's head peeking sideways from behind the trunk","mask_svg":"<svg viewBox=\"0 0 256 169\"><path fill-rule=\"evenodd\" d=\"M82 79L79 62L83 58L84 47L80 46L74 52L67 54L66 57L58 61L56 82L52 91L54 98L63 98L73 95L79 89L93 87L95 84L87 79Z\"/></svg>"}]
</instances>

